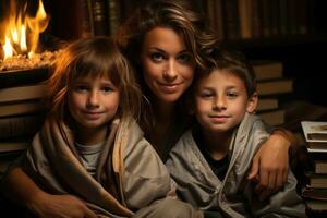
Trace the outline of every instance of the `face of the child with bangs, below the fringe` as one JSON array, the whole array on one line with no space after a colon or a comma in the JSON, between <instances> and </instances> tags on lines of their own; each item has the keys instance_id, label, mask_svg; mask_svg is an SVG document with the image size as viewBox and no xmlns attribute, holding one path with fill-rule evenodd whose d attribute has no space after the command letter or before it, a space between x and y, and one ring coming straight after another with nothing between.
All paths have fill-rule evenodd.
<instances>
[{"instance_id":1,"label":"face of the child with bangs, below the fringe","mask_svg":"<svg viewBox=\"0 0 327 218\"><path fill-rule=\"evenodd\" d=\"M119 89L108 78L81 77L69 90L68 106L81 130L107 131L119 107Z\"/></svg>"}]
</instances>

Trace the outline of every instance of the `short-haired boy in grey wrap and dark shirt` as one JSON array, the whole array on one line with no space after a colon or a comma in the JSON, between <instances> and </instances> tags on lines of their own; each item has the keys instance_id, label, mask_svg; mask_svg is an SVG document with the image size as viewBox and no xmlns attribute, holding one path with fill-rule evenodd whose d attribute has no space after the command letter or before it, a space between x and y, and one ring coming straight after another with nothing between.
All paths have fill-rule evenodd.
<instances>
[{"instance_id":1,"label":"short-haired boy in grey wrap and dark shirt","mask_svg":"<svg viewBox=\"0 0 327 218\"><path fill-rule=\"evenodd\" d=\"M196 122L171 150L167 167L185 202L228 217L305 217L296 180L266 201L247 179L251 161L269 136L258 117L255 76L240 53L213 51L194 84Z\"/></svg>"}]
</instances>

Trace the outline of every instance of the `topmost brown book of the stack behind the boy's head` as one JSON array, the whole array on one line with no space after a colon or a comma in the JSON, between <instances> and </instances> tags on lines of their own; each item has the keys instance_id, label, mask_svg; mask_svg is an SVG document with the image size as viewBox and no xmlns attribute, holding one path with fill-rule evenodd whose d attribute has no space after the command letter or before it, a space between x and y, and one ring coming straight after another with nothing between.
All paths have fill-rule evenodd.
<instances>
[{"instance_id":1,"label":"topmost brown book of the stack behind the boy's head","mask_svg":"<svg viewBox=\"0 0 327 218\"><path fill-rule=\"evenodd\" d=\"M257 81L282 77L283 65L281 61L253 60L251 64Z\"/></svg>"}]
</instances>

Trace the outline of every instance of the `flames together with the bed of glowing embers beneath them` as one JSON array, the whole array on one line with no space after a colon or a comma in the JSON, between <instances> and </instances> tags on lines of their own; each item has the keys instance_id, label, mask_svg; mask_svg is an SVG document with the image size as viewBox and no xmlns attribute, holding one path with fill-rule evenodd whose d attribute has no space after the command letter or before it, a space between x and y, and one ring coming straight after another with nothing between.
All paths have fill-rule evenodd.
<instances>
[{"instance_id":1,"label":"flames together with the bed of glowing embers beneath them","mask_svg":"<svg viewBox=\"0 0 327 218\"><path fill-rule=\"evenodd\" d=\"M57 52L49 51L37 55L39 34L47 28L50 20L41 0L35 16L28 15L26 9L27 3L17 7L15 0L10 1L9 17L0 26L3 59L0 60L0 71L43 68L51 64L56 57Z\"/></svg>"}]
</instances>

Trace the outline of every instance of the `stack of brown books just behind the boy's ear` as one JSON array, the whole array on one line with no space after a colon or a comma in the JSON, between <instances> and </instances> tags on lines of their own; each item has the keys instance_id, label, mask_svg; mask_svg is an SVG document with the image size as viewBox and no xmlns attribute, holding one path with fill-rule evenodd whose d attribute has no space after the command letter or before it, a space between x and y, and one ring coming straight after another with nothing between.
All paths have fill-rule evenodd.
<instances>
[{"instance_id":1,"label":"stack of brown books just behind the boy's ear","mask_svg":"<svg viewBox=\"0 0 327 218\"><path fill-rule=\"evenodd\" d=\"M253 61L252 65L259 97L257 113L270 125L283 124L286 111L280 107L280 98L293 92L293 81L283 76L281 61Z\"/></svg>"}]
</instances>

